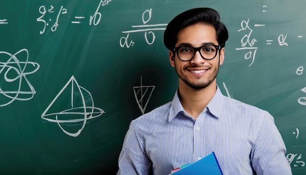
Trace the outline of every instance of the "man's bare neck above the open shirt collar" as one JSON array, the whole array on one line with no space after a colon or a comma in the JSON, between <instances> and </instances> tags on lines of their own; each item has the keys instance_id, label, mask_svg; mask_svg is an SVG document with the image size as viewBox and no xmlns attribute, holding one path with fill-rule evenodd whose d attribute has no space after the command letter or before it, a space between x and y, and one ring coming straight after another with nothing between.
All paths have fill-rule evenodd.
<instances>
[{"instance_id":1,"label":"man's bare neck above the open shirt collar","mask_svg":"<svg viewBox=\"0 0 306 175\"><path fill-rule=\"evenodd\" d=\"M185 111L193 118L197 118L205 109L216 91L217 85L215 81L202 89L194 89L186 84L178 88L179 100Z\"/></svg>"}]
</instances>

